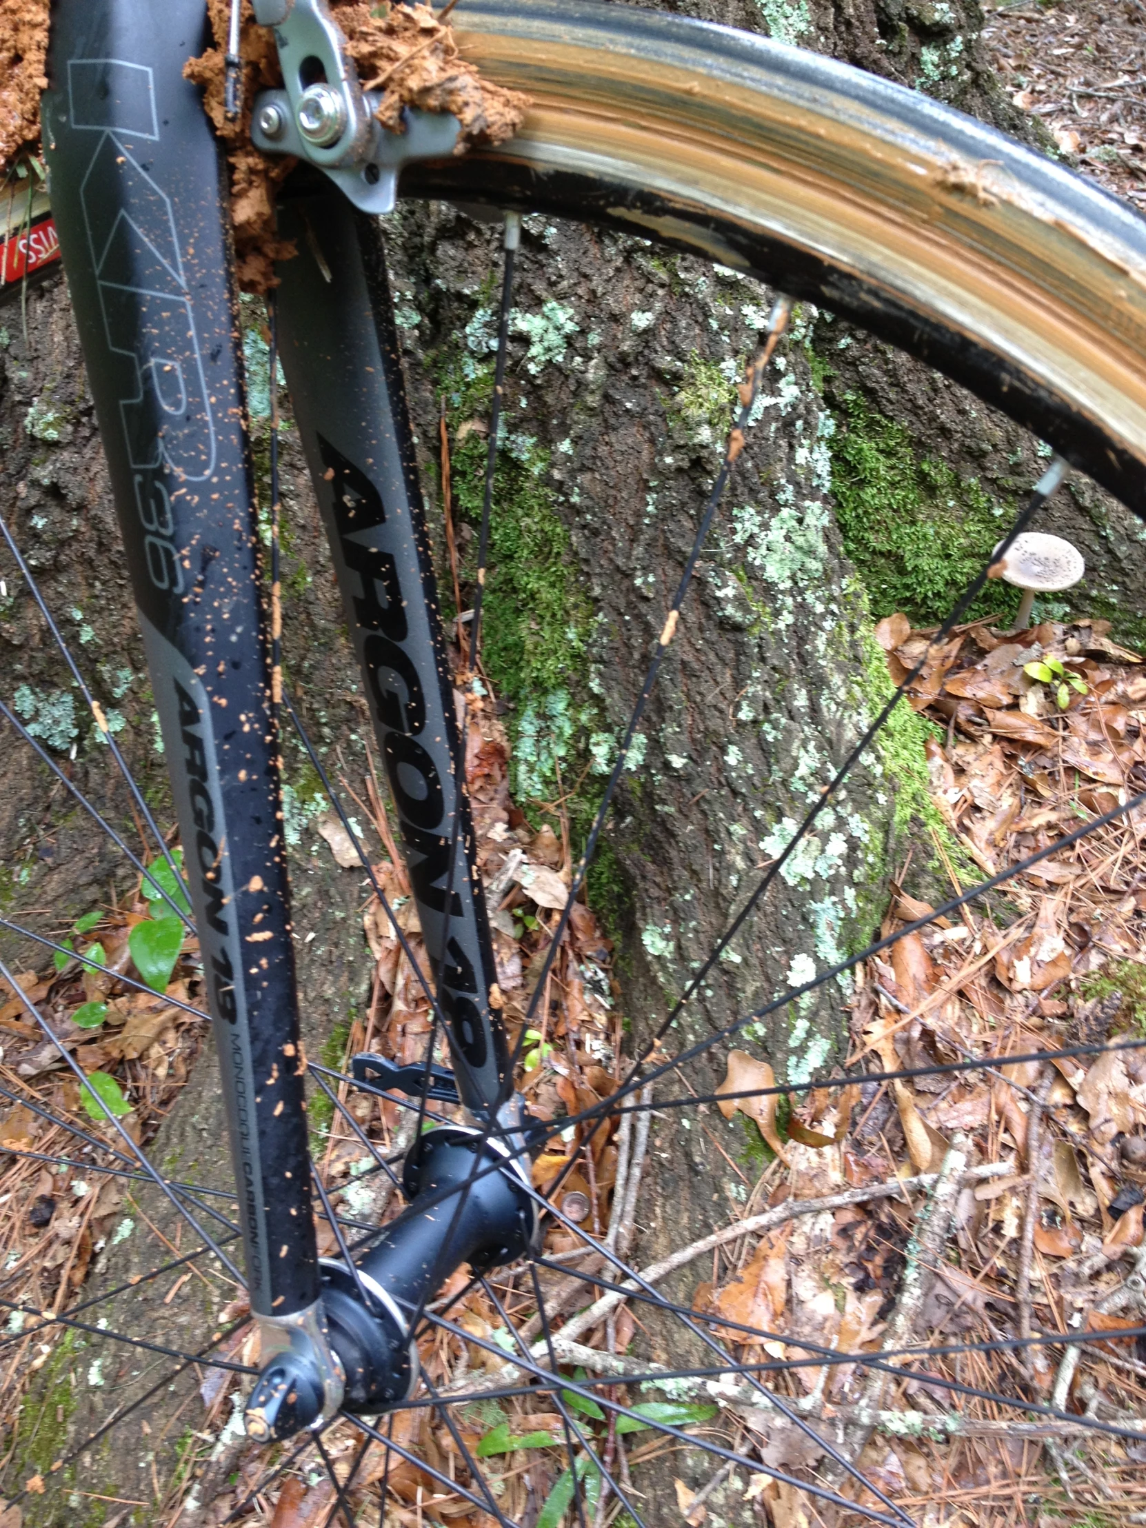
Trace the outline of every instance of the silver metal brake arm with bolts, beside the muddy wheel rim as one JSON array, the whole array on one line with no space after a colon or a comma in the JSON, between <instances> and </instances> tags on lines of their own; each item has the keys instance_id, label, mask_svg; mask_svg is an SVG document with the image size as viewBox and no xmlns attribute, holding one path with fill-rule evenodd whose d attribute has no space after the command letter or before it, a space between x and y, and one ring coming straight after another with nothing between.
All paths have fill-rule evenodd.
<instances>
[{"instance_id":1,"label":"silver metal brake arm with bolts, beside the muddy wheel rim","mask_svg":"<svg viewBox=\"0 0 1146 1528\"><path fill-rule=\"evenodd\" d=\"M307 160L362 212L393 211L402 165L451 154L460 121L403 107L405 131L388 131L374 116L382 92L362 90L327 0L254 0L254 8L260 26L274 28L284 81L255 96L255 148Z\"/></svg>"}]
</instances>

